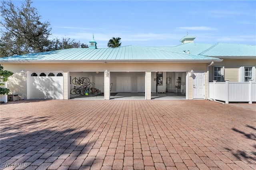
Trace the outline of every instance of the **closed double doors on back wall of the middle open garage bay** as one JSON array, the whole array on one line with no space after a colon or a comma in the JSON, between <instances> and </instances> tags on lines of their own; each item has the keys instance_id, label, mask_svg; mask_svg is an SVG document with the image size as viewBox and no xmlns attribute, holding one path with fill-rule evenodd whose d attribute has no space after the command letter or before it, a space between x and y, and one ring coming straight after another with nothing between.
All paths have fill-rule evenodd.
<instances>
[{"instance_id":1,"label":"closed double doors on back wall of the middle open garage bay","mask_svg":"<svg viewBox=\"0 0 256 170\"><path fill-rule=\"evenodd\" d=\"M116 92L131 92L131 77L116 77Z\"/></svg>"}]
</instances>

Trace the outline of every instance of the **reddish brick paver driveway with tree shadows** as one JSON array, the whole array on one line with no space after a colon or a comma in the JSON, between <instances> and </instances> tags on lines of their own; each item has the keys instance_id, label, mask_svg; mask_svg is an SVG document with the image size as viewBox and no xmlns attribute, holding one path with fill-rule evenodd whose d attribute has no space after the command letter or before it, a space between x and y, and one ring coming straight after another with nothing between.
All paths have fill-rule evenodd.
<instances>
[{"instance_id":1,"label":"reddish brick paver driveway with tree shadows","mask_svg":"<svg viewBox=\"0 0 256 170\"><path fill-rule=\"evenodd\" d=\"M256 169L254 109L205 100L32 100L0 109L1 169Z\"/></svg>"}]
</instances>

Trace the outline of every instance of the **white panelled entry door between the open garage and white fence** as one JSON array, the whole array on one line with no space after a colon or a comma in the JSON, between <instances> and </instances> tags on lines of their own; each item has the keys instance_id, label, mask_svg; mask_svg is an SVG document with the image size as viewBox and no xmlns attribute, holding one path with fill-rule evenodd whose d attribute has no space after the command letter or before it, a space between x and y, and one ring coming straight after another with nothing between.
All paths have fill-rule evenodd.
<instances>
[{"instance_id":1,"label":"white panelled entry door between the open garage and white fence","mask_svg":"<svg viewBox=\"0 0 256 170\"><path fill-rule=\"evenodd\" d=\"M204 99L205 94L205 73L194 73L193 78L193 99Z\"/></svg>"}]
</instances>

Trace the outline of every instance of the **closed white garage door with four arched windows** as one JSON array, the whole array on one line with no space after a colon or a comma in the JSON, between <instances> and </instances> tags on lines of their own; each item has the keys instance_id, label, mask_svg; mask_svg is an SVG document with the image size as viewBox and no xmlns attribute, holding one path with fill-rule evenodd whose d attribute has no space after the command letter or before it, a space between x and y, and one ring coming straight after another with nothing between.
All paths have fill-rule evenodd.
<instances>
[{"instance_id":1,"label":"closed white garage door with four arched windows","mask_svg":"<svg viewBox=\"0 0 256 170\"><path fill-rule=\"evenodd\" d=\"M63 99L62 72L32 72L30 99Z\"/></svg>"}]
</instances>

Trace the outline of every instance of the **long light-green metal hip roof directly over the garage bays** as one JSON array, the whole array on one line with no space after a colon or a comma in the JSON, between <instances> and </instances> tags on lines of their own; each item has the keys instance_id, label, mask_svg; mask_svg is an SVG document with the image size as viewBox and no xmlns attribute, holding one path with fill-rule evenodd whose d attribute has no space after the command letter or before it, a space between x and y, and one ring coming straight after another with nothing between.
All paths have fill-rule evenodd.
<instances>
[{"instance_id":1,"label":"long light-green metal hip roof directly over the garage bays","mask_svg":"<svg viewBox=\"0 0 256 170\"><path fill-rule=\"evenodd\" d=\"M186 45L186 44L184 44ZM186 45L187 46L187 45ZM177 48L177 49L176 49ZM41 53L32 53L26 55L17 55L12 57L1 58L1 62L64 62L64 61L144 61L144 62L161 62L161 61L221 61L218 58L207 57L201 55L193 55L192 53L183 53L178 47L169 50L167 47L153 48L128 45L117 48L70 48L56 51L46 51Z\"/></svg>"}]
</instances>

